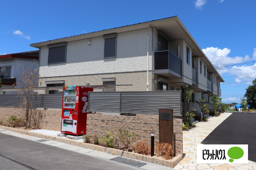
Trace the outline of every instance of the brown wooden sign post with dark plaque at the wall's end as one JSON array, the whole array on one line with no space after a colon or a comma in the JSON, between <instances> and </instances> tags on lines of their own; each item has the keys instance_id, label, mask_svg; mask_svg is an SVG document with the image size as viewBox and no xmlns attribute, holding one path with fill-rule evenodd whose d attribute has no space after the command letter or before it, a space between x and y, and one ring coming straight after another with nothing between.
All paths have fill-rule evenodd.
<instances>
[{"instance_id":1,"label":"brown wooden sign post with dark plaque at the wall's end","mask_svg":"<svg viewBox=\"0 0 256 170\"><path fill-rule=\"evenodd\" d=\"M162 142L172 145L174 155L172 109L159 109L159 143Z\"/></svg>"}]
</instances>

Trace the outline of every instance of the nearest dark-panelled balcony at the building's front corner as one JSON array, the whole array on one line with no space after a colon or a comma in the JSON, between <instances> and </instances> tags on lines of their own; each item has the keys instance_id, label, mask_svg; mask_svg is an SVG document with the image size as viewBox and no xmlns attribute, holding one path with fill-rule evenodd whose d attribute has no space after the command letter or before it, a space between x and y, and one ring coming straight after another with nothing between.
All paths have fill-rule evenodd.
<instances>
[{"instance_id":1,"label":"nearest dark-panelled balcony at the building's front corner","mask_svg":"<svg viewBox=\"0 0 256 170\"><path fill-rule=\"evenodd\" d=\"M154 73L168 78L182 78L182 60L170 50L156 51Z\"/></svg>"}]
</instances>

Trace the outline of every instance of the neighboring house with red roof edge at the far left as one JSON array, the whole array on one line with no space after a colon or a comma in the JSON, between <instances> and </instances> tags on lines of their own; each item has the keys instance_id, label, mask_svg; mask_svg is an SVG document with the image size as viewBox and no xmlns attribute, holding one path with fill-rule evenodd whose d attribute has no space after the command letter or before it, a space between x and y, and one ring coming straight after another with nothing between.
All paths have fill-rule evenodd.
<instances>
[{"instance_id":1,"label":"neighboring house with red roof edge at the far left","mask_svg":"<svg viewBox=\"0 0 256 170\"><path fill-rule=\"evenodd\" d=\"M27 68L38 68L39 50L27 51L22 53L12 53L0 55L0 79L2 80L2 89L19 87L21 78L21 68L26 65ZM33 61L35 59L35 61ZM33 64L35 62L35 64ZM14 91L6 91L4 94L14 94Z\"/></svg>"}]
</instances>

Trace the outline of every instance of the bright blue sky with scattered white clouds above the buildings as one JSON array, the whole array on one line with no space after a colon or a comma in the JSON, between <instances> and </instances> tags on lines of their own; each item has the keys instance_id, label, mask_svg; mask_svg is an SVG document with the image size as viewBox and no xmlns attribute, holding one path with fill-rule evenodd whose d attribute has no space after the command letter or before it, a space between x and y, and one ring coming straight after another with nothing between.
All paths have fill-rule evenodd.
<instances>
[{"instance_id":1,"label":"bright blue sky with scattered white clouds above the buildings","mask_svg":"<svg viewBox=\"0 0 256 170\"><path fill-rule=\"evenodd\" d=\"M214 66L256 61L256 0L8 0L0 6L0 54L35 50L31 43L178 16ZM255 79L254 71L256 64L250 63L219 72L232 83ZM249 84L221 85L223 101L240 102Z\"/></svg>"}]
</instances>

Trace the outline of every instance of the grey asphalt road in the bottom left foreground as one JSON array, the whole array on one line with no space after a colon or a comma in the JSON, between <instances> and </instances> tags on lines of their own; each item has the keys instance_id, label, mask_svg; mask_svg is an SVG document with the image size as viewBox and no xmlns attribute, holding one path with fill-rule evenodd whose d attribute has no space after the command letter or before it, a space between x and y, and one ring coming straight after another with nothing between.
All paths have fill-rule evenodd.
<instances>
[{"instance_id":1,"label":"grey asphalt road in the bottom left foreground","mask_svg":"<svg viewBox=\"0 0 256 170\"><path fill-rule=\"evenodd\" d=\"M0 133L0 170L138 170L96 158Z\"/></svg>"}]
</instances>

